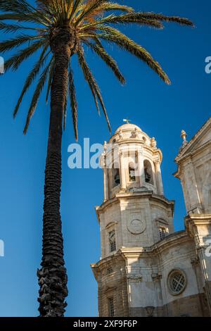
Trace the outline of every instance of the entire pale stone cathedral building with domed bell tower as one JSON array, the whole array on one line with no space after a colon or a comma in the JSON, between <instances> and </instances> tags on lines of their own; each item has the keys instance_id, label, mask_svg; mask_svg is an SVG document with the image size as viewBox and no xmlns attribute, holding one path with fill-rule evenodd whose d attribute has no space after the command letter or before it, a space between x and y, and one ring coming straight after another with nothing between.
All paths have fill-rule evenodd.
<instances>
[{"instance_id":1,"label":"entire pale stone cathedral building with domed bell tower","mask_svg":"<svg viewBox=\"0 0 211 331\"><path fill-rule=\"evenodd\" d=\"M91 264L99 316L211 316L211 118L189 142L186 132L181 137L174 176L186 216L179 232L155 138L127 123L104 144L101 259Z\"/></svg>"}]
</instances>

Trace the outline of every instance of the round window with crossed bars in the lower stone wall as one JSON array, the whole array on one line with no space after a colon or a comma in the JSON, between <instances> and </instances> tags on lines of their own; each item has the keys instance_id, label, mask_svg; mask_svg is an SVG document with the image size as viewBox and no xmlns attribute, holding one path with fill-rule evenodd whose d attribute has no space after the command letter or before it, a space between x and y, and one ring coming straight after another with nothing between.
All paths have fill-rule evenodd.
<instances>
[{"instance_id":1,"label":"round window with crossed bars in the lower stone wall","mask_svg":"<svg viewBox=\"0 0 211 331\"><path fill-rule=\"evenodd\" d=\"M168 285L173 295L179 295L186 287L186 275L181 270L173 270L168 277Z\"/></svg>"}]
</instances>

